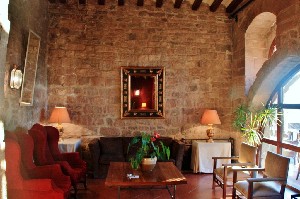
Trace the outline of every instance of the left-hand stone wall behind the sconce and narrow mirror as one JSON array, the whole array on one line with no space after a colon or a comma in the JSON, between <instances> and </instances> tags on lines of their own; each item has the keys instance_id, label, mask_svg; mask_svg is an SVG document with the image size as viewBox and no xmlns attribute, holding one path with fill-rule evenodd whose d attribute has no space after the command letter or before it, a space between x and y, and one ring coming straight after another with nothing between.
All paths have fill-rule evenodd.
<instances>
[{"instance_id":1,"label":"left-hand stone wall behind the sconce and narrow mirror","mask_svg":"<svg viewBox=\"0 0 300 199\"><path fill-rule=\"evenodd\" d=\"M35 123L44 122L47 110L47 39L48 2L14 0L9 2L10 34L7 45L4 77L4 130L24 131ZM41 36L33 106L20 107L20 89L10 88L13 64L24 71L29 29Z\"/></svg>"}]
</instances>

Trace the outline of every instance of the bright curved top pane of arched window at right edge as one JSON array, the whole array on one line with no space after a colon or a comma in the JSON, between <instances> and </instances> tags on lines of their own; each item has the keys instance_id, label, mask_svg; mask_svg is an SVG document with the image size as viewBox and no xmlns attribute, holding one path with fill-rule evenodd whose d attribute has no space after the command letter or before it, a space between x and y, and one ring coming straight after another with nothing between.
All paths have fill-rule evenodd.
<instances>
[{"instance_id":1,"label":"bright curved top pane of arched window at right edge","mask_svg":"<svg viewBox=\"0 0 300 199\"><path fill-rule=\"evenodd\" d=\"M283 86L283 104L300 104L300 71ZM299 115L298 115L299 116Z\"/></svg>"}]
</instances>

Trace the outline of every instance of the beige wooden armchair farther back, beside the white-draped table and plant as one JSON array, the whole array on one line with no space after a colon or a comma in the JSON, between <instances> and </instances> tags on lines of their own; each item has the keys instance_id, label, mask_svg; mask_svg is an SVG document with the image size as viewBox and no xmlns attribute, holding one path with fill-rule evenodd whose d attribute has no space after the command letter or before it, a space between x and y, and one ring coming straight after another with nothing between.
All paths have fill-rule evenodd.
<instances>
[{"instance_id":1,"label":"beige wooden armchair farther back, beside the white-draped table and plant","mask_svg":"<svg viewBox=\"0 0 300 199\"><path fill-rule=\"evenodd\" d=\"M233 181L233 166L238 167L255 167L256 161L256 152L257 147L252 146L247 143L241 144L241 149L239 152L239 156L236 157L213 157L214 160L214 173L212 179L212 188L214 189L216 183L223 188L223 199L226 198L226 188L227 186L232 186L232 184L227 184L227 181ZM216 168L217 160L218 159L231 159L231 160L238 160L238 163L230 163L230 164L223 164L223 167ZM253 176L253 173L245 172L245 173L238 173L237 180L244 180L249 177Z\"/></svg>"}]
</instances>

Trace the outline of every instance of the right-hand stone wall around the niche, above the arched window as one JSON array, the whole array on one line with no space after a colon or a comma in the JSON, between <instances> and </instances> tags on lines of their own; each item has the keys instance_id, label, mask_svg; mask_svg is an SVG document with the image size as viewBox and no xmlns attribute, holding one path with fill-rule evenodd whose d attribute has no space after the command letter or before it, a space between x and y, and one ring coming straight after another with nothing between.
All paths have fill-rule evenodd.
<instances>
[{"instance_id":1,"label":"right-hand stone wall around the niche, above the arched window","mask_svg":"<svg viewBox=\"0 0 300 199\"><path fill-rule=\"evenodd\" d=\"M245 89L245 32L253 20L262 13L276 16L277 51L266 60L256 74L256 79L249 89L248 98ZM238 23L232 26L232 91L233 106L247 100L251 107L258 110L261 102L266 103L280 80L300 63L300 2L298 0L264 1L249 4L238 13ZM263 21L261 21L263 23ZM270 35L272 35L271 29ZM234 133L232 133L234 137ZM238 139L237 146L242 140ZM237 147L238 149L238 147ZM238 152L238 150L236 150Z\"/></svg>"}]
</instances>

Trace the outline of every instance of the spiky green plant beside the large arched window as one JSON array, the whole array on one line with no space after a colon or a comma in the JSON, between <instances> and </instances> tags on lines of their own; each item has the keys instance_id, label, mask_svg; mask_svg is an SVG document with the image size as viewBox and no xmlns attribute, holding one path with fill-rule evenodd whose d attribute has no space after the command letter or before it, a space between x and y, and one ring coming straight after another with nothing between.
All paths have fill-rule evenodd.
<instances>
[{"instance_id":1,"label":"spiky green plant beside the large arched window","mask_svg":"<svg viewBox=\"0 0 300 199\"><path fill-rule=\"evenodd\" d=\"M272 125L272 122L276 122L278 124L282 123L277 115L277 106L271 103L268 106L263 105L263 109L254 112L251 112L246 106L246 102L243 104L239 104L232 114L233 114L233 121L232 126L235 128L236 131L241 132L241 137L245 137L245 142L251 145L260 145L263 139L263 129L265 125Z\"/></svg>"}]
</instances>

